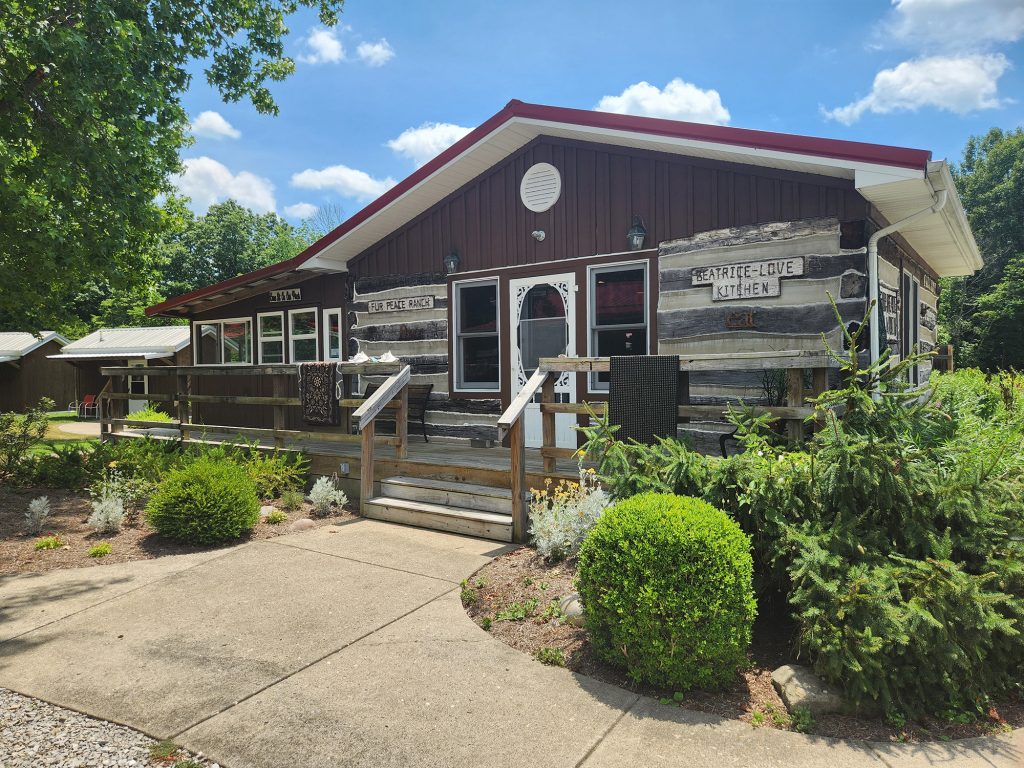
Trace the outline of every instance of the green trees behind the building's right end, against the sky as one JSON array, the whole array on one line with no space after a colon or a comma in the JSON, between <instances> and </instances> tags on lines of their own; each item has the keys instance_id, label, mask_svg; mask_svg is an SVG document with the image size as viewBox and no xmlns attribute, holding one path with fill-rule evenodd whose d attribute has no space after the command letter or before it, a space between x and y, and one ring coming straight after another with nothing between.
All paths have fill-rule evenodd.
<instances>
[{"instance_id":1,"label":"green trees behind the building's right end, against the sky","mask_svg":"<svg viewBox=\"0 0 1024 768\"><path fill-rule=\"evenodd\" d=\"M1024 368L1024 129L973 136L954 179L985 266L943 281L939 319L958 365Z\"/></svg>"}]
</instances>

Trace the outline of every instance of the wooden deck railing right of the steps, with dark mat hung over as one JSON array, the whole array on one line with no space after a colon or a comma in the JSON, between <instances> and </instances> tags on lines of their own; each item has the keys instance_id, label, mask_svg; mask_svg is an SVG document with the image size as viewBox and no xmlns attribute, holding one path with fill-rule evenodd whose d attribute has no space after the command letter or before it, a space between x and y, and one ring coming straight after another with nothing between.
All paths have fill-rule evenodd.
<instances>
[{"instance_id":1,"label":"wooden deck railing right of the steps, with dark mat hung over","mask_svg":"<svg viewBox=\"0 0 1024 768\"><path fill-rule=\"evenodd\" d=\"M805 406L808 395L817 395L827 386L828 369L835 361L823 352L781 351L781 352L740 352L731 354L701 354L679 358L679 395L677 413L682 422L692 418L716 418L724 416L728 404L694 406L690 403L689 375L696 371L785 371L785 391L787 406L764 406L755 408L756 413L769 414L774 419L785 422L786 434L792 439L801 439L804 422L813 415L814 409ZM608 357L542 357L537 371L529 381L513 397L512 402L498 420L500 439L508 436L511 457L512 486L512 539L525 542L529 523L527 512L527 488L525 479L526 443L523 431L523 414L526 406L538 392L541 393L542 444L541 456L545 473L555 471L558 459L577 457L577 449L558 447L555 444L555 415L586 415L594 412L599 416L607 413L603 400L582 400L579 402L555 402L555 381L562 373L607 373L610 368ZM804 389L804 372L811 371L811 389ZM799 404L795 404L799 403Z\"/></svg>"}]
</instances>

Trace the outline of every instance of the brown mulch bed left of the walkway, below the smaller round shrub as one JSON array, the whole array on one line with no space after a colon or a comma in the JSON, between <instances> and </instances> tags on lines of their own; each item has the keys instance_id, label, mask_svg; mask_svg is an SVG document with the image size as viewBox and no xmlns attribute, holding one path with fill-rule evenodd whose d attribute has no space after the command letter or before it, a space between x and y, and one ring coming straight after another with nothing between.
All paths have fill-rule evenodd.
<instances>
[{"instance_id":1,"label":"brown mulch bed left of the walkway, below the smaller round shrub","mask_svg":"<svg viewBox=\"0 0 1024 768\"><path fill-rule=\"evenodd\" d=\"M29 502L39 496L45 496L50 500L50 516L42 534L29 536L25 532L25 511ZM263 504L281 508L279 502L263 502ZM234 546L294 532L291 530L291 523L300 518L311 517L311 509L308 503L294 512L282 509L281 511L288 515L288 520L276 525L260 520L249 536L221 546ZM125 524L117 534L111 536L97 534L86 525L91 511L89 498L84 493L59 488L0 487L0 573L100 566L130 560L146 560L164 555L207 552L220 548L178 544L165 539L145 523L141 513L126 518ZM331 517L312 519L314 525L319 527L346 517L351 515L344 512ZM60 537L63 545L60 549L36 551L33 548L38 539L52 535ZM89 549L102 542L111 545L111 554L104 557L89 557L87 554Z\"/></svg>"}]
</instances>

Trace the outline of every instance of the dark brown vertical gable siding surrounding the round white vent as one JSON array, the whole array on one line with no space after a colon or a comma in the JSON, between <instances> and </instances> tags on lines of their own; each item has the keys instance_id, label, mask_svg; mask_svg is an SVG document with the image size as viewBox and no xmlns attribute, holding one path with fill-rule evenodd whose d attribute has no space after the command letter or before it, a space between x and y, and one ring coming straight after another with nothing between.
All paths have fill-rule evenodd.
<instances>
[{"instance_id":1,"label":"dark brown vertical gable siding surrounding the round white vent","mask_svg":"<svg viewBox=\"0 0 1024 768\"><path fill-rule=\"evenodd\" d=\"M561 173L558 202L531 213L519 200L535 163ZM646 246L726 226L867 217L848 180L755 170L663 153L541 137L392 232L349 264L356 276L435 271L457 249L461 271L617 253L634 215ZM530 237L543 229L539 243Z\"/></svg>"}]
</instances>

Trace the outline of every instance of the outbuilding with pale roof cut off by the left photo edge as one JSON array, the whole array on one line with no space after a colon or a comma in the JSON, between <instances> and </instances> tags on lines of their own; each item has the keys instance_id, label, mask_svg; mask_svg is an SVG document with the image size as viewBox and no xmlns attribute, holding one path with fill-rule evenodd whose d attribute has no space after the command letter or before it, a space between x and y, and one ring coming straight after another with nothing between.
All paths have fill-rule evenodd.
<instances>
[{"instance_id":1,"label":"outbuilding with pale roof cut off by the left photo edge","mask_svg":"<svg viewBox=\"0 0 1024 768\"><path fill-rule=\"evenodd\" d=\"M56 408L75 399L75 369L49 356L66 344L55 331L0 333L0 411L25 411L42 397Z\"/></svg>"}]
</instances>

